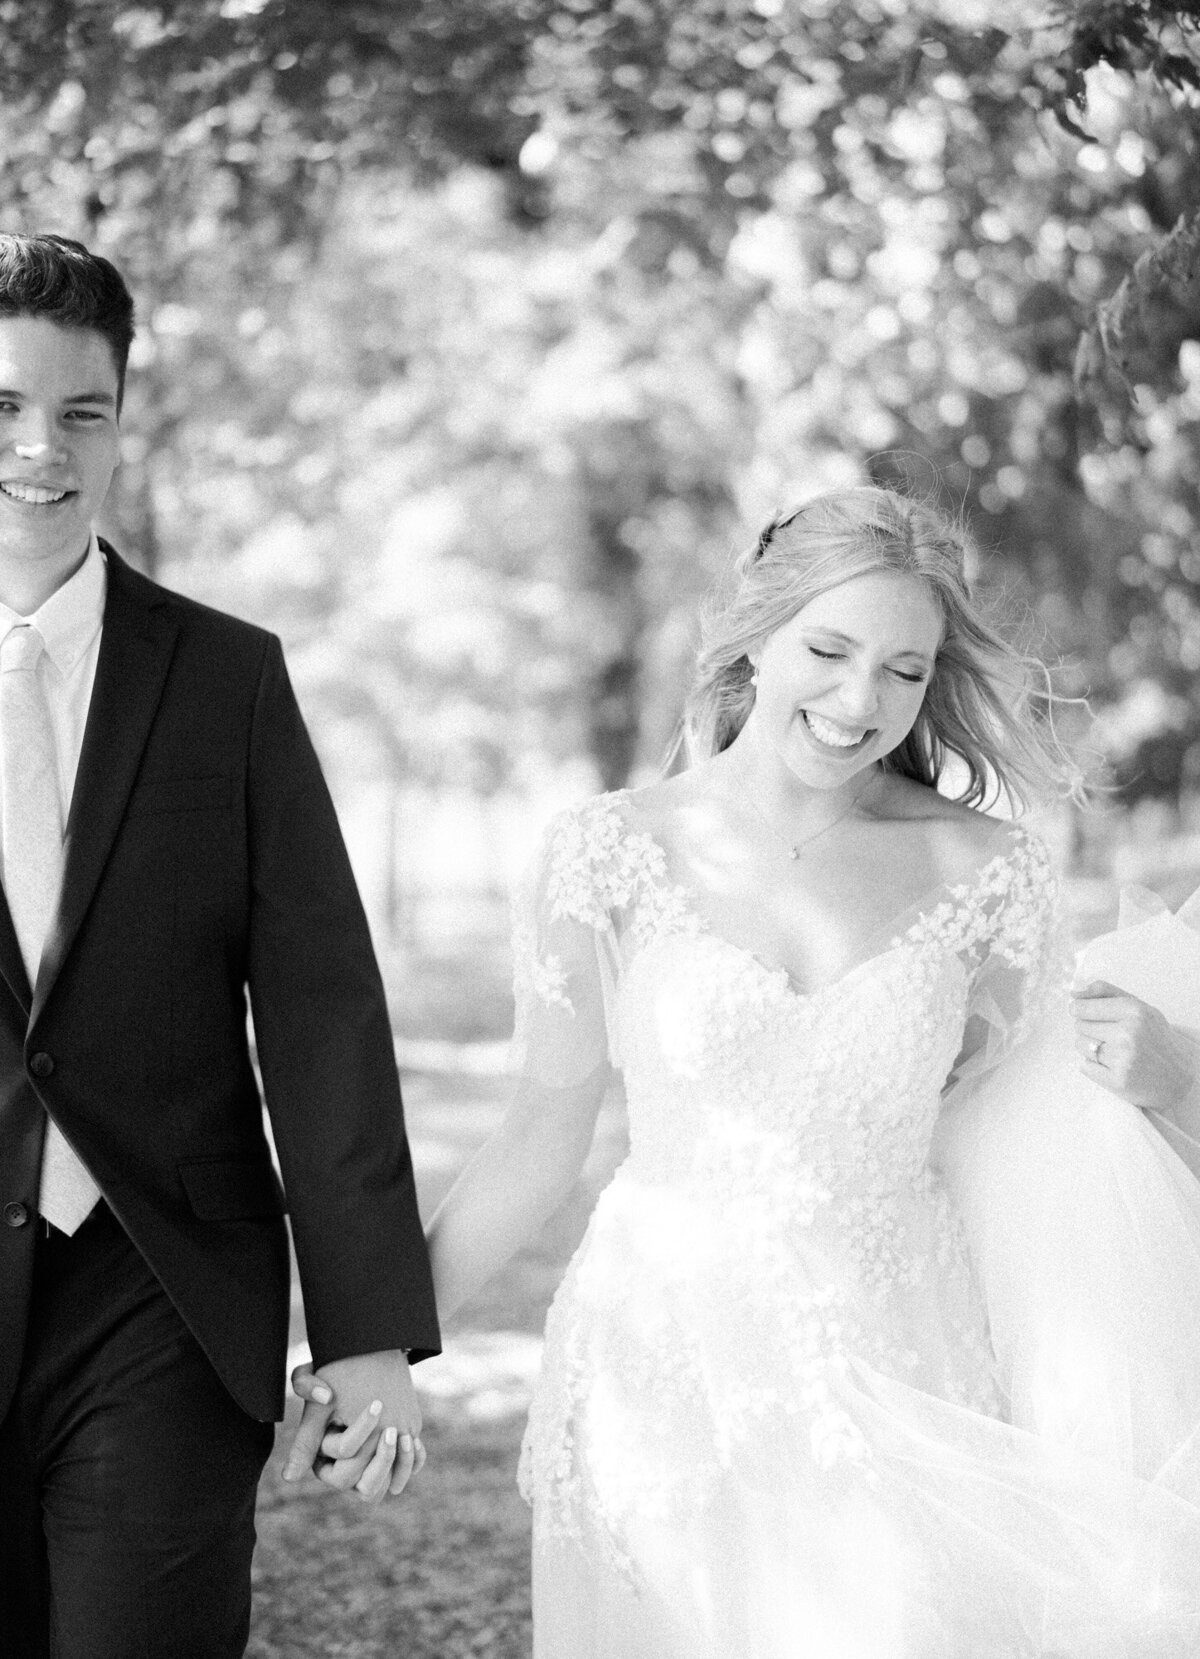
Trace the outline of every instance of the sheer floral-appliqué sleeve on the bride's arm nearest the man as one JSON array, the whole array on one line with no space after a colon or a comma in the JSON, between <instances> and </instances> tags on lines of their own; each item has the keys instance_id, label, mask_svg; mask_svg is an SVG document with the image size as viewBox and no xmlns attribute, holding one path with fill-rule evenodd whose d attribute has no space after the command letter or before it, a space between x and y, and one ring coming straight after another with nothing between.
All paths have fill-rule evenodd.
<instances>
[{"instance_id":1,"label":"sheer floral-appliqu\u00e9 sleeve on the bride's arm nearest the man","mask_svg":"<svg viewBox=\"0 0 1200 1659\"><path fill-rule=\"evenodd\" d=\"M622 821L606 796L551 820L513 896L511 1063L528 1083L569 1088L621 1063L622 886Z\"/></svg>"}]
</instances>

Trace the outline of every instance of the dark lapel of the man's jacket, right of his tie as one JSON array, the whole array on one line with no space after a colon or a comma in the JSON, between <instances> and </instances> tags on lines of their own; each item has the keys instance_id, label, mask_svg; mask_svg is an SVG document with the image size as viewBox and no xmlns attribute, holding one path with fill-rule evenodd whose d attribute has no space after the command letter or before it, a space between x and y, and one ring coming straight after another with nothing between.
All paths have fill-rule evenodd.
<instances>
[{"instance_id":1,"label":"dark lapel of the man's jacket, right of his tie","mask_svg":"<svg viewBox=\"0 0 1200 1659\"><path fill-rule=\"evenodd\" d=\"M111 547L105 546L105 632L66 820L63 891L33 987L30 1020L37 1020L45 1007L108 861L163 695L178 632L171 606L161 591L134 574ZM0 972L3 922L12 932L12 921L5 914L0 917ZM20 951L17 957L20 961Z\"/></svg>"}]
</instances>

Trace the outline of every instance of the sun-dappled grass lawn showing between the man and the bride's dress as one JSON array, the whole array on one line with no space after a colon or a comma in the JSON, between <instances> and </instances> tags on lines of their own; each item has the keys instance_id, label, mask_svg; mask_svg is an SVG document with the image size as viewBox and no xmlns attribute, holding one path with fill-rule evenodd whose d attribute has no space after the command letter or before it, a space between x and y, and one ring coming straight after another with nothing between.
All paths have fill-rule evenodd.
<instances>
[{"instance_id":1,"label":"sun-dappled grass lawn showing between the man and the bride's dress","mask_svg":"<svg viewBox=\"0 0 1200 1659\"><path fill-rule=\"evenodd\" d=\"M405 1103L428 1216L496 1121L505 1083L417 1075L405 1080ZM249 1659L526 1659L529 1511L516 1460L538 1337L621 1151L621 1113L609 1108L576 1198L463 1311L446 1354L417 1369L428 1463L402 1498L372 1510L315 1478L285 1486L290 1402L259 1488Z\"/></svg>"}]
</instances>

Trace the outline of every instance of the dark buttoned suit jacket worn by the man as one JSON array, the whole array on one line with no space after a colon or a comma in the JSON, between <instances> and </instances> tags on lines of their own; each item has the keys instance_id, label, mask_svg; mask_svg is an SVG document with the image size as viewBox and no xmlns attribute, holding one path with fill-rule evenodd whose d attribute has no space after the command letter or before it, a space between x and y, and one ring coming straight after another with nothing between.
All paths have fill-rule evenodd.
<instances>
[{"instance_id":1,"label":"dark buttoned suit jacket worn by the man","mask_svg":"<svg viewBox=\"0 0 1200 1659\"><path fill-rule=\"evenodd\" d=\"M33 990L0 901L0 1417L45 1107L231 1394L269 1420L289 1261L247 989L314 1359L438 1345L383 987L279 642L105 552L63 894Z\"/></svg>"}]
</instances>

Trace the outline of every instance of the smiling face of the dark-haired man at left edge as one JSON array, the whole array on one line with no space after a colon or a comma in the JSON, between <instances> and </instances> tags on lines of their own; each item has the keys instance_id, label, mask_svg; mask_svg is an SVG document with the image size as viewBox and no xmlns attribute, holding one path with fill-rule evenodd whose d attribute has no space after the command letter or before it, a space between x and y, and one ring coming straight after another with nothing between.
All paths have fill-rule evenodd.
<instances>
[{"instance_id":1,"label":"smiling face of the dark-haired man at left edge","mask_svg":"<svg viewBox=\"0 0 1200 1659\"><path fill-rule=\"evenodd\" d=\"M65 581L118 461L118 377L93 328L0 317L0 564Z\"/></svg>"}]
</instances>

